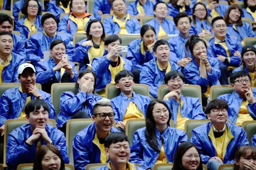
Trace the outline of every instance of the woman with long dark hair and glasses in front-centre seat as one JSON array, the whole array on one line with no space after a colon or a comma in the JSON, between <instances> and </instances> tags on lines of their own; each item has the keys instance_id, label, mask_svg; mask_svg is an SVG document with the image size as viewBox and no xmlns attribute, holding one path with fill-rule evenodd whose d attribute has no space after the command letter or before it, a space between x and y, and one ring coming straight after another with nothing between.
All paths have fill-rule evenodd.
<instances>
[{"instance_id":1,"label":"woman with long dark hair and glasses in front-centre seat","mask_svg":"<svg viewBox=\"0 0 256 170\"><path fill-rule=\"evenodd\" d=\"M184 131L169 127L170 111L166 103L156 99L146 112L146 127L138 129L131 145L132 163L144 169L152 169L157 163L170 163L178 145L187 141Z\"/></svg>"}]
</instances>

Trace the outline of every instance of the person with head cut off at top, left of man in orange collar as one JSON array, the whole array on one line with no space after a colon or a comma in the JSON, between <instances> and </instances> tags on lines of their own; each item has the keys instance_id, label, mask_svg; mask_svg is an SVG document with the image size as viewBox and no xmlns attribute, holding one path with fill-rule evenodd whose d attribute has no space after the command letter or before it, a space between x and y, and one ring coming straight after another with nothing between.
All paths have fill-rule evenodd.
<instances>
[{"instance_id":1,"label":"person with head cut off at top, left of man in orange collar","mask_svg":"<svg viewBox=\"0 0 256 170\"><path fill-rule=\"evenodd\" d=\"M70 13L71 0L52 0L48 3L47 12L51 12L59 21L60 14Z\"/></svg>"}]
</instances>

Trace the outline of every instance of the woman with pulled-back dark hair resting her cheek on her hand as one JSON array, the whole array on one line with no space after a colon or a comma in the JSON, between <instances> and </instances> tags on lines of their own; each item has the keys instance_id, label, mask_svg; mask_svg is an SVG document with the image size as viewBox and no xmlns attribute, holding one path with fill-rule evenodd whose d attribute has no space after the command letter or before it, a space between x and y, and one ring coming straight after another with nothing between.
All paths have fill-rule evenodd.
<instances>
[{"instance_id":1,"label":"woman with pulled-back dark hair resting her cheek on her hand","mask_svg":"<svg viewBox=\"0 0 256 170\"><path fill-rule=\"evenodd\" d=\"M153 58L153 46L156 42L156 31L150 25L144 25L140 29L140 39L133 40L128 44L126 59L133 64L134 82L140 82L142 65Z\"/></svg>"}]
</instances>

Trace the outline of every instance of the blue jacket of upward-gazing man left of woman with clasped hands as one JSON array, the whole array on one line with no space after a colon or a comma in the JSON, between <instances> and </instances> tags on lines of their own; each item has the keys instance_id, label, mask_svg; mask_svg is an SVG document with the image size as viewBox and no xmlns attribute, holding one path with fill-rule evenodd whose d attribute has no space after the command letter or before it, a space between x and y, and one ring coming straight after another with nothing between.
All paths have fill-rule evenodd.
<instances>
[{"instance_id":1,"label":"blue jacket of upward-gazing man left of woman with clasped hands","mask_svg":"<svg viewBox=\"0 0 256 170\"><path fill-rule=\"evenodd\" d=\"M170 61L172 70L181 70L181 67ZM140 72L140 84L147 84L150 86L150 93L157 99L158 87L164 84L164 76L166 70L161 71L157 66L156 59L144 63Z\"/></svg>"}]
</instances>

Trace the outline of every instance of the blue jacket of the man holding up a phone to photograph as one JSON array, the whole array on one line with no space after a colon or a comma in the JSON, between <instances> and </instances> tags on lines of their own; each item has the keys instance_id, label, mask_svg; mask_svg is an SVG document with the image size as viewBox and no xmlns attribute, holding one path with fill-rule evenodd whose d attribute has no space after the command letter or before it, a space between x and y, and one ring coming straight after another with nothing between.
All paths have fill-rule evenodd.
<instances>
[{"instance_id":1,"label":"blue jacket of the man holding up a phone to photograph","mask_svg":"<svg viewBox=\"0 0 256 170\"><path fill-rule=\"evenodd\" d=\"M132 71L132 63L130 60L122 58L124 61L124 69ZM111 60L103 57L95 57L92 62L92 70L96 73L97 83L96 83L96 91L100 91L106 87L107 84L111 82L111 71L109 69Z\"/></svg>"}]
</instances>

